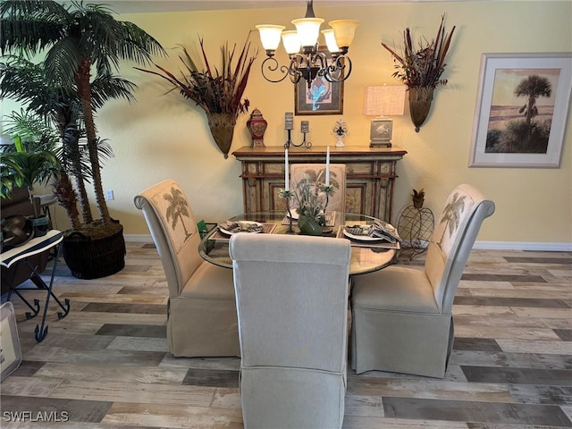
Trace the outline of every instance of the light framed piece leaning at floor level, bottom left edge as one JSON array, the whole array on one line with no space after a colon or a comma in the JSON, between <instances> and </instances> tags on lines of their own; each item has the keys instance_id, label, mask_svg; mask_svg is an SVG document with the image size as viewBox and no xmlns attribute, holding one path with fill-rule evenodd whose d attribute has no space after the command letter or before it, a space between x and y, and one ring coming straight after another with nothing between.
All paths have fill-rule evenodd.
<instances>
[{"instance_id":1,"label":"light framed piece leaning at floor level, bottom left edge","mask_svg":"<svg viewBox=\"0 0 572 429\"><path fill-rule=\"evenodd\" d=\"M16 316L12 302L4 302L0 307L0 381L12 374L21 364L21 349Z\"/></svg>"}]
</instances>

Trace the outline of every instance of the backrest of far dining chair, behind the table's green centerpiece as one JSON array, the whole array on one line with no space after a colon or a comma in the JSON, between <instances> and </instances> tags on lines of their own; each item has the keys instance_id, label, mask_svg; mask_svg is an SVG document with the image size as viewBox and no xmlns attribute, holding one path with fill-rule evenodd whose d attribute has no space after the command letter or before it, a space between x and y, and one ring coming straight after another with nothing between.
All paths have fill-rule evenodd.
<instances>
[{"instance_id":1,"label":"backrest of far dining chair, behind the table's green centerpiece","mask_svg":"<svg viewBox=\"0 0 572 429\"><path fill-rule=\"evenodd\" d=\"M325 164L290 164L290 190L295 191L304 176L310 181L325 183ZM326 210L346 212L346 165L330 164L330 185L335 189L328 199ZM296 208L296 199L292 198Z\"/></svg>"}]
</instances>

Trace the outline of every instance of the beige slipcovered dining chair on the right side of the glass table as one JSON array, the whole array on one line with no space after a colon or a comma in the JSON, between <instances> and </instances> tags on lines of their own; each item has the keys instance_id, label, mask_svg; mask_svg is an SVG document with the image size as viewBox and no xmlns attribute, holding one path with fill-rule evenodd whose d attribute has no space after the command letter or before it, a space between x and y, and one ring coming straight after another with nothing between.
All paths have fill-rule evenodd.
<instances>
[{"instance_id":1,"label":"beige slipcovered dining chair on the right side of the glass table","mask_svg":"<svg viewBox=\"0 0 572 429\"><path fill-rule=\"evenodd\" d=\"M444 377L454 340L452 307L494 203L473 186L454 189L429 240L425 270L392 265L354 278L351 367Z\"/></svg>"}]
</instances>

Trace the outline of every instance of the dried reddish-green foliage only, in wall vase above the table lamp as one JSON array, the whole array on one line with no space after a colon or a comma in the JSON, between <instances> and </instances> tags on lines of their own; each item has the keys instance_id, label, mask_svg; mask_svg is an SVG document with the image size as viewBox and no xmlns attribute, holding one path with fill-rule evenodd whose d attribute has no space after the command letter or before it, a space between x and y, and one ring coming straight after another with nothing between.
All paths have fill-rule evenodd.
<instances>
[{"instance_id":1,"label":"dried reddish-green foliage only, in wall vase above the table lamp","mask_svg":"<svg viewBox=\"0 0 572 429\"><path fill-rule=\"evenodd\" d=\"M418 49L413 46L409 29L403 32L404 47L401 55L396 52L395 48L391 49L390 46L382 43L382 46L393 56L395 68L398 69L392 77L400 79L408 88L435 88L438 85L447 85L447 80L442 80L441 75L447 65L445 56L449 51L455 27L453 26L449 34L445 33L444 20L445 15L442 15L437 36L431 41L426 38L420 40Z\"/></svg>"}]
</instances>

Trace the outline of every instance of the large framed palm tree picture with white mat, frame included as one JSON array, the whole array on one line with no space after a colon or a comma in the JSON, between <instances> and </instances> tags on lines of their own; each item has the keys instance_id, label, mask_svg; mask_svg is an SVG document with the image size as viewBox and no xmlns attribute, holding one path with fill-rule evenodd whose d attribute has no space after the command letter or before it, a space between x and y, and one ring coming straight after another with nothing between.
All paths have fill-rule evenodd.
<instances>
[{"instance_id":1,"label":"large framed palm tree picture with white mat, frame included","mask_svg":"<svg viewBox=\"0 0 572 429\"><path fill-rule=\"evenodd\" d=\"M469 167L558 168L572 53L483 54Z\"/></svg>"}]
</instances>

